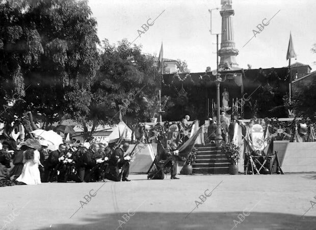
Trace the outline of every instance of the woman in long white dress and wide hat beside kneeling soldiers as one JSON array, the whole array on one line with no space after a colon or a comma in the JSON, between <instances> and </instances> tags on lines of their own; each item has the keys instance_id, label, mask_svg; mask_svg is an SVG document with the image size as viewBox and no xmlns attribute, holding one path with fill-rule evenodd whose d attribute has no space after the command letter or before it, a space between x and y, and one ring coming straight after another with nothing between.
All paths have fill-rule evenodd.
<instances>
[{"instance_id":1,"label":"woman in long white dress and wide hat beside kneeling soldiers","mask_svg":"<svg viewBox=\"0 0 316 230\"><path fill-rule=\"evenodd\" d=\"M29 141L30 140L30 141ZM18 182L22 182L27 185L37 185L41 184L41 176L38 166L40 163L40 153L37 150L41 145L37 140L29 139L25 142L25 145L29 149L23 152L23 162L24 166L21 175L16 179Z\"/></svg>"}]
</instances>

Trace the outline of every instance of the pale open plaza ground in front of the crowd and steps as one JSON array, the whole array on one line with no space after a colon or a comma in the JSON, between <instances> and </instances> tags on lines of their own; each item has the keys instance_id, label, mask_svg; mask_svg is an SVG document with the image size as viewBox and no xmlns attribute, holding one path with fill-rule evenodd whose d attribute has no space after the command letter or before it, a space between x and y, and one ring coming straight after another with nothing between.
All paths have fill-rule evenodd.
<instances>
[{"instance_id":1,"label":"pale open plaza ground in front of the crowd and steps","mask_svg":"<svg viewBox=\"0 0 316 230\"><path fill-rule=\"evenodd\" d=\"M0 228L316 229L315 173L179 177L0 188Z\"/></svg>"}]
</instances>

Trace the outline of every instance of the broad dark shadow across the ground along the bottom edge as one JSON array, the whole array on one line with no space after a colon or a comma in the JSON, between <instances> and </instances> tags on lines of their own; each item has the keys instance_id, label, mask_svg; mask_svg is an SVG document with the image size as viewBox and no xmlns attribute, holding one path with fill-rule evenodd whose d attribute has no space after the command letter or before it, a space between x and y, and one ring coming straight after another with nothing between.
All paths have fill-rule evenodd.
<instances>
[{"instance_id":1,"label":"broad dark shadow across the ground along the bottom edge","mask_svg":"<svg viewBox=\"0 0 316 230\"><path fill-rule=\"evenodd\" d=\"M127 221L122 218L126 213L104 214L77 219L81 224L53 224L40 229L316 229L316 217L252 212L241 222L241 213L193 212L185 219L188 213L136 212ZM240 221L235 227L234 220Z\"/></svg>"}]
</instances>

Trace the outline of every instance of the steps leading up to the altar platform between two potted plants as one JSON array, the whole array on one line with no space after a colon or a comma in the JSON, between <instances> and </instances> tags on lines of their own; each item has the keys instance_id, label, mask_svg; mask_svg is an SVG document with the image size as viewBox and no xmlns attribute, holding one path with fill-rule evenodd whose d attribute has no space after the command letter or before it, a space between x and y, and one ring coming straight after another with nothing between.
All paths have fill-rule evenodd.
<instances>
[{"instance_id":1,"label":"steps leading up to the altar platform between two potted plants","mask_svg":"<svg viewBox=\"0 0 316 230\"><path fill-rule=\"evenodd\" d=\"M215 144L195 145L198 148L196 163L192 164L193 173L228 174L229 161L217 150Z\"/></svg>"}]
</instances>

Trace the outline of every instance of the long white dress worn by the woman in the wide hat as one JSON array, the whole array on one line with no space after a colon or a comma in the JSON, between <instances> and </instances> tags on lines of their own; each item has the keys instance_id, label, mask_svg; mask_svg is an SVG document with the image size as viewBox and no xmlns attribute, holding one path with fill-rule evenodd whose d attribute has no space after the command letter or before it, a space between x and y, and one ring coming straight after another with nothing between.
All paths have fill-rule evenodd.
<instances>
[{"instance_id":1,"label":"long white dress worn by the woman in the wide hat","mask_svg":"<svg viewBox=\"0 0 316 230\"><path fill-rule=\"evenodd\" d=\"M40 171L38 165L40 164L40 153L34 150L34 159L28 160L24 163L21 175L16 179L27 185L41 184Z\"/></svg>"}]
</instances>

